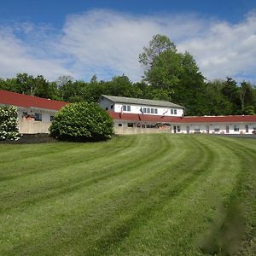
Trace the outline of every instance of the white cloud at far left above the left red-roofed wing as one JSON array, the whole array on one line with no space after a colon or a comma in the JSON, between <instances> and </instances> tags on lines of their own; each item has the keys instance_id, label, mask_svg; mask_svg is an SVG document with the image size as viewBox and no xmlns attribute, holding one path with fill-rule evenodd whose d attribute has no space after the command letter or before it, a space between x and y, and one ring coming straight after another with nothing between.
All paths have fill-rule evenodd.
<instances>
[{"instance_id":1,"label":"white cloud at far left above the left red-roofed wing","mask_svg":"<svg viewBox=\"0 0 256 256\"><path fill-rule=\"evenodd\" d=\"M32 38L31 38L32 41ZM43 74L47 79L56 79L63 74L70 74L63 62L55 59L53 55L38 56L44 50L39 42L34 45L15 36L9 28L0 28L0 77L13 78L16 73L29 73L37 76ZM41 45L42 46L42 45Z\"/></svg>"}]
</instances>

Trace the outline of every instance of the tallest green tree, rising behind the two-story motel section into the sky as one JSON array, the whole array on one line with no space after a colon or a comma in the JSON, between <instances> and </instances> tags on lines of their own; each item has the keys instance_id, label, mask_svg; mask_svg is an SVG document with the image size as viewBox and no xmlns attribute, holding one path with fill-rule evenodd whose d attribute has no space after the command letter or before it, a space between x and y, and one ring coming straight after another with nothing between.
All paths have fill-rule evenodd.
<instances>
[{"instance_id":1,"label":"tallest green tree, rising behind the two-story motel section into the sky","mask_svg":"<svg viewBox=\"0 0 256 256\"><path fill-rule=\"evenodd\" d=\"M205 83L195 59L189 52L177 53L175 44L166 36L156 35L139 55L145 81L155 89L168 91L172 101L183 105L186 114L204 112Z\"/></svg>"}]
</instances>

